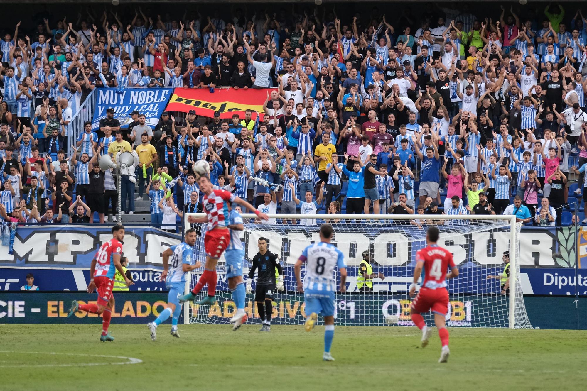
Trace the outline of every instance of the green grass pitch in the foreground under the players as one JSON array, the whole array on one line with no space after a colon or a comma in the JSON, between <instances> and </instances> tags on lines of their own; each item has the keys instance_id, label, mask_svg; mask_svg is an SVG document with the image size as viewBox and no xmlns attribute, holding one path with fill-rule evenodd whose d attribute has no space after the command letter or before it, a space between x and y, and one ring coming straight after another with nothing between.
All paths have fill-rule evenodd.
<instances>
[{"instance_id":1,"label":"green grass pitch in the foreground under the players","mask_svg":"<svg viewBox=\"0 0 587 391\"><path fill-rule=\"evenodd\" d=\"M587 332L450 329L450 360L437 363L436 331L426 349L420 332L403 327L336 328L322 362L323 327L180 325L181 339L160 326L0 325L2 390L579 390L587 382ZM21 353L16 353L21 352ZM22 352L75 353L48 355ZM81 366L126 359L134 365ZM69 365L69 366L56 366Z\"/></svg>"}]
</instances>

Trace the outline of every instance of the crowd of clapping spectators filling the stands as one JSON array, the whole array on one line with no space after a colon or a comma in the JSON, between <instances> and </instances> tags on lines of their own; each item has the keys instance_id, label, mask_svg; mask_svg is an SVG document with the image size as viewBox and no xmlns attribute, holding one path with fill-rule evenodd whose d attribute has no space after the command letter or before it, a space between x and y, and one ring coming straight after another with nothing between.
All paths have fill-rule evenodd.
<instances>
[{"instance_id":1,"label":"crowd of clapping spectators filling the stands","mask_svg":"<svg viewBox=\"0 0 587 391\"><path fill-rule=\"evenodd\" d=\"M122 211L148 194L157 224L201 210L193 164L205 159L218 188L264 213L515 214L561 225L587 185L587 19L565 3L492 7L404 10L392 21L383 4L370 14L275 6L210 16L135 5L41 18L26 31L18 22L0 42L0 214L114 219L116 180L97 162L135 151ZM153 129L133 112L122 128L109 110L68 145L73 115L106 86L274 89L264 112L230 120L166 112ZM276 223L315 221L266 222Z\"/></svg>"}]
</instances>

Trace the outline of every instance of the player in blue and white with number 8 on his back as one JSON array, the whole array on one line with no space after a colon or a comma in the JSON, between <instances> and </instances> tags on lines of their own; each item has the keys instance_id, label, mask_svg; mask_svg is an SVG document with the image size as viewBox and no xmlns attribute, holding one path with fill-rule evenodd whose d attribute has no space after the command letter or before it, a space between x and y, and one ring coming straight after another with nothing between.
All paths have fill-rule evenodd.
<instances>
[{"instance_id":1,"label":"player in blue and white with number 8 on his back","mask_svg":"<svg viewBox=\"0 0 587 391\"><path fill-rule=\"evenodd\" d=\"M330 224L320 227L320 241L309 245L302 251L295 264L295 278L298 291L303 292L306 302L306 331L311 331L318 320L324 317L324 353L322 360L334 361L330 355L330 345L334 338L334 302L336 291L335 268L340 272L340 293L346 292L345 255L335 245L334 229ZM302 285L302 264L306 264L306 277Z\"/></svg>"}]
</instances>

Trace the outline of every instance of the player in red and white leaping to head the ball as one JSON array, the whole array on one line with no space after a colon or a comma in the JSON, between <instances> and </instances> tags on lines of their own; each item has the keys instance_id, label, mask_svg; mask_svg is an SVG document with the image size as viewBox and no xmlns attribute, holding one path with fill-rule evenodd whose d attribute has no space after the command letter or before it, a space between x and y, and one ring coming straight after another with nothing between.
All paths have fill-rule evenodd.
<instances>
[{"instance_id":1,"label":"player in red and white leaping to head the ball","mask_svg":"<svg viewBox=\"0 0 587 391\"><path fill-rule=\"evenodd\" d=\"M204 288L204 285L208 285L207 298L198 301L197 304L212 305L216 302L216 283L218 281L216 264L218 263L218 258L221 257L230 243L230 231L228 230L228 224L230 224L228 213L230 213L230 210L228 203L236 203L242 207L249 208L249 210L255 211L255 214L263 220L269 220L269 217L265 213L259 212L247 201L235 197L234 194L226 190L214 190L210 178L207 176L198 178L198 186L200 186L200 191L204 194L202 209L205 211L206 216L200 218L188 217L188 222L208 223L208 230L204 237L206 264L204 265L204 272L198 283L195 284L194 289L187 295L181 296L180 302L184 303L193 300L195 295Z\"/></svg>"}]
</instances>

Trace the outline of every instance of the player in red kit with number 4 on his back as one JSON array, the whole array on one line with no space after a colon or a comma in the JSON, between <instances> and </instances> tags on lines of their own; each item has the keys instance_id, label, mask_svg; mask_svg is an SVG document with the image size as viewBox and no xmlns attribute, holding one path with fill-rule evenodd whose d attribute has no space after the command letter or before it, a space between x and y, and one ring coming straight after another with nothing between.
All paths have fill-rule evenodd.
<instances>
[{"instance_id":1,"label":"player in red kit with number 4 on his back","mask_svg":"<svg viewBox=\"0 0 587 391\"><path fill-rule=\"evenodd\" d=\"M432 330L426 326L422 312L432 311L434 322L438 329L438 336L442 342L442 350L438 362L447 362L450 350L448 350L448 330L445 317L448 313L448 291L446 279L455 278L458 268L454 265L453 254L439 247L436 242L440 236L437 227L430 227L426 232L426 247L416 253L416 267L414 268L414 282L410 285L410 296L416 292L416 282L420 278L424 268L424 281L416 298L411 302L411 320L422 331L422 348L428 345L428 339ZM446 273L450 267L450 272Z\"/></svg>"}]
</instances>

